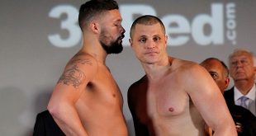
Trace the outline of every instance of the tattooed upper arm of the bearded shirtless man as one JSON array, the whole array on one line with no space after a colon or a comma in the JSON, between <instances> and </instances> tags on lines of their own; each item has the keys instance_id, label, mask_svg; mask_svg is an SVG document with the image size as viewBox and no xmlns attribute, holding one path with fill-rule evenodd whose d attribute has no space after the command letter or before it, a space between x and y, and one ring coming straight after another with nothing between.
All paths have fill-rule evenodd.
<instances>
[{"instance_id":1,"label":"tattooed upper arm of the bearded shirtless man","mask_svg":"<svg viewBox=\"0 0 256 136\"><path fill-rule=\"evenodd\" d=\"M77 100L88 82L92 81L96 69L90 59L71 59L59 77L55 91L60 91L60 96Z\"/></svg>"}]
</instances>

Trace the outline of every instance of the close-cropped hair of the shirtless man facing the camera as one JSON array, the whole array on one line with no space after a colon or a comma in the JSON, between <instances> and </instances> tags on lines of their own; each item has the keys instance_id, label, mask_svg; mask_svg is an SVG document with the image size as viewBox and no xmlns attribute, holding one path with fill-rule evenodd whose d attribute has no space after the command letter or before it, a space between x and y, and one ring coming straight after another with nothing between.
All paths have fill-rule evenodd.
<instances>
[{"instance_id":1,"label":"close-cropped hair of the shirtless man facing the camera","mask_svg":"<svg viewBox=\"0 0 256 136\"><path fill-rule=\"evenodd\" d=\"M145 15L145 16L140 16L135 21L132 23L130 27L130 38L133 35L133 32L135 30L135 26L137 24L143 24L143 25L154 25L156 23L159 23L162 26L162 29L165 34L165 27L164 23L157 17L157 16L152 16L152 15Z\"/></svg>"}]
</instances>

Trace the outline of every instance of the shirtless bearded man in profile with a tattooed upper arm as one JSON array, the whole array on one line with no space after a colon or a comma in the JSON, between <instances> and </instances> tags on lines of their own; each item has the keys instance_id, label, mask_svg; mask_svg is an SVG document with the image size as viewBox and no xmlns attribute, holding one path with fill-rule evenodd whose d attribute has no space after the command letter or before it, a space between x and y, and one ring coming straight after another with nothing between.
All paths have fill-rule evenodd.
<instances>
[{"instance_id":1,"label":"shirtless bearded man in profile with a tattooed upper arm","mask_svg":"<svg viewBox=\"0 0 256 136\"><path fill-rule=\"evenodd\" d=\"M79 10L83 46L69 60L47 109L66 135L127 136L121 91L106 66L122 50L125 30L114 0L91 0Z\"/></svg>"}]
</instances>

